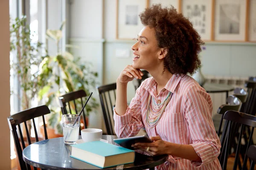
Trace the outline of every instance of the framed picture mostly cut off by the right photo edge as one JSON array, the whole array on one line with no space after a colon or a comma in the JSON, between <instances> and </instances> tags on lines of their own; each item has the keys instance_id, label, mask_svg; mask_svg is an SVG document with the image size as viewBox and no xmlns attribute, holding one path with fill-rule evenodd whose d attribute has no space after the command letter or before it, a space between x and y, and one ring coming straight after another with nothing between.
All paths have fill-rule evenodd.
<instances>
[{"instance_id":1,"label":"framed picture mostly cut off by the right photo edge","mask_svg":"<svg viewBox=\"0 0 256 170\"><path fill-rule=\"evenodd\" d=\"M250 0L248 40L256 42L256 0Z\"/></svg>"}]
</instances>

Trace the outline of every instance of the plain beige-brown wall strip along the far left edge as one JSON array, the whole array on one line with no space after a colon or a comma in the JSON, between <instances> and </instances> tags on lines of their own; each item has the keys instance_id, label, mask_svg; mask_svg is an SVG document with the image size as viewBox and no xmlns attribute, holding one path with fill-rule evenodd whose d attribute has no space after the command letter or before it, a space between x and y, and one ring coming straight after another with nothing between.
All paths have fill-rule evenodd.
<instances>
[{"instance_id":1,"label":"plain beige-brown wall strip along the far left edge","mask_svg":"<svg viewBox=\"0 0 256 170\"><path fill-rule=\"evenodd\" d=\"M10 32L9 32L9 0L0 1L0 51L1 51L1 62L0 62L0 108L1 108L1 119L0 119L0 169L10 170L11 159L10 159L10 129L7 123L7 117L10 116Z\"/></svg>"}]
</instances>

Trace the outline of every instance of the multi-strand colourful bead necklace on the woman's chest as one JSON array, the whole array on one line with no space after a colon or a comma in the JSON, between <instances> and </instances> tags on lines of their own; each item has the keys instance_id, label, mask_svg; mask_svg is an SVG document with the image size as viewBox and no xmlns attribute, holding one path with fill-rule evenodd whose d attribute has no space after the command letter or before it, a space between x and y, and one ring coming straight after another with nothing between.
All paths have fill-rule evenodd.
<instances>
[{"instance_id":1,"label":"multi-strand colourful bead necklace on the woman's chest","mask_svg":"<svg viewBox=\"0 0 256 170\"><path fill-rule=\"evenodd\" d=\"M155 101L155 99L152 99L152 96L149 94L148 97L148 108L147 108L147 114L146 114L146 125L149 128L153 128L157 125L157 123L159 122L160 118L163 115L163 112L167 106L167 104L169 103L169 101L172 98L172 92L169 92L169 94L167 95L166 99L157 104L157 102ZM153 100L153 102L151 102Z\"/></svg>"}]
</instances>

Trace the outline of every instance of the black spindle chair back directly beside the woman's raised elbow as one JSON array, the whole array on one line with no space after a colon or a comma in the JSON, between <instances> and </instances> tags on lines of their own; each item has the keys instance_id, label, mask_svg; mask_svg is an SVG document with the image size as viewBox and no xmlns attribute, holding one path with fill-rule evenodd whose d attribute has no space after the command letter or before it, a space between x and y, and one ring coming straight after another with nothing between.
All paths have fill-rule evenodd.
<instances>
[{"instance_id":1,"label":"black spindle chair back directly beside the woman's raised elbow","mask_svg":"<svg viewBox=\"0 0 256 170\"><path fill-rule=\"evenodd\" d=\"M97 87L100 104L108 135L115 135L113 126L113 107L116 103L116 83Z\"/></svg>"}]
</instances>

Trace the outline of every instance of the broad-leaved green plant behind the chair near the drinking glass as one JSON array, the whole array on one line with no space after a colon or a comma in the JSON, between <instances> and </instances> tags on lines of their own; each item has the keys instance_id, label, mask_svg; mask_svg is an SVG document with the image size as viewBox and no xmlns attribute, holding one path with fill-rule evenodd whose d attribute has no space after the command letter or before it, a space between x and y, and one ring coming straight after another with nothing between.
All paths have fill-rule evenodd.
<instances>
[{"instance_id":1,"label":"broad-leaved green plant behind the chair near the drinking glass","mask_svg":"<svg viewBox=\"0 0 256 170\"><path fill-rule=\"evenodd\" d=\"M81 61L80 57L74 57L70 52L61 50L60 40L62 37L63 23L58 30L47 30L49 40L55 41L57 54L55 56L45 56L40 64L39 79L48 82L39 91L38 99L44 99L51 110L48 125L55 129L55 133L62 134L61 109L57 105L58 97L71 91L84 90L90 94L90 90L96 87L96 77L98 74L92 71L92 65ZM73 45L66 45L68 48L77 48ZM47 75L47 76L45 76ZM77 103L79 105L81 103ZM86 105L86 113L89 114L98 107L96 99L91 97ZM71 105L72 113L75 113L74 106Z\"/></svg>"}]
</instances>

